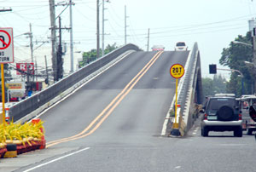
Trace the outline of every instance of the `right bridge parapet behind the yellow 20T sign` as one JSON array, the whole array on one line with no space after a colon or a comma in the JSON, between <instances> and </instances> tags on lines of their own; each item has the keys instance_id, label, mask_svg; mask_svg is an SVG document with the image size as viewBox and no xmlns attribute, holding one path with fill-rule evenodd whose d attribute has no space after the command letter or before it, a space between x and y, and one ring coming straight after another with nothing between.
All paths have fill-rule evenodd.
<instances>
[{"instance_id":1,"label":"right bridge parapet behind the yellow 20T sign","mask_svg":"<svg viewBox=\"0 0 256 172\"><path fill-rule=\"evenodd\" d=\"M195 105L200 104L202 100L201 60L197 43L194 44L193 49L189 52L184 69L185 74L180 79L177 88L177 104L180 105L177 108L177 122L179 123L180 135L182 136L192 127L194 123L193 114L195 112ZM171 112L173 112L174 104L175 96L166 115L161 135L169 135L172 130L174 118L171 117Z\"/></svg>"}]
</instances>

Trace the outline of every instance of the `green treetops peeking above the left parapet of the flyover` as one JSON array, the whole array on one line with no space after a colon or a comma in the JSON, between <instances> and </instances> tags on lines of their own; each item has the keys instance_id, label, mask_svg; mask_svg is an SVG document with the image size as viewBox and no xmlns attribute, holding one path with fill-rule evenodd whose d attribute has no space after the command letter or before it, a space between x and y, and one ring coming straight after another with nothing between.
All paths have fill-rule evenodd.
<instances>
[{"instance_id":1,"label":"green treetops peeking above the left parapet of the flyover","mask_svg":"<svg viewBox=\"0 0 256 172\"><path fill-rule=\"evenodd\" d=\"M104 49L104 53L108 54L114 49L117 49L116 43L113 43L113 45L107 45L106 49ZM86 64L89 64L91 61L96 60L97 56L97 50L91 49L90 51L84 52L83 54L83 60L79 62L79 67L85 66ZM102 56L102 49L100 49L100 56Z\"/></svg>"}]
</instances>

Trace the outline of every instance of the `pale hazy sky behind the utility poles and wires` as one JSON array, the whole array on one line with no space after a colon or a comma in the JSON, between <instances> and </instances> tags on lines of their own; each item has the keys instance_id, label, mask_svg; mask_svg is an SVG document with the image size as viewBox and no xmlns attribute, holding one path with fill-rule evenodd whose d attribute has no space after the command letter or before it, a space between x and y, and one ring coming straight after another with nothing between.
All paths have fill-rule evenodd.
<instances>
[{"instance_id":1,"label":"pale hazy sky behind the utility poles and wires","mask_svg":"<svg viewBox=\"0 0 256 172\"><path fill-rule=\"evenodd\" d=\"M69 9L61 4L64 0L55 0L55 15L61 14L61 26L69 27ZM96 49L96 0L73 0L73 42L74 63L82 57L84 51ZM100 32L102 33L102 0ZM48 0L0 0L1 9L11 8L11 12L2 12L0 27L13 27L15 43L15 62L30 62L28 47L30 40L24 35L32 24L34 55L38 69L44 68L44 55L50 57L50 20ZM229 47L238 35L248 32L248 20L256 15L256 1L252 0L105 0L105 41L104 44L125 43L125 6L127 18L127 43L134 43L141 49L147 49L148 28L149 49L154 45L164 45L173 50L175 43L184 41L191 49L198 43L201 54L202 77L209 74L209 64L217 64L222 49ZM63 11L64 10L64 11ZM63 12L62 12L63 11ZM61 13L62 12L62 13ZM58 21L58 20L56 20ZM56 22L56 25L58 22ZM62 30L62 40L69 48L70 34ZM57 33L58 35L58 33ZM38 43L36 43L38 42ZM100 45L102 46L102 39ZM64 58L65 70L70 69L70 54ZM228 78L230 72L218 71Z\"/></svg>"}]
</instances>

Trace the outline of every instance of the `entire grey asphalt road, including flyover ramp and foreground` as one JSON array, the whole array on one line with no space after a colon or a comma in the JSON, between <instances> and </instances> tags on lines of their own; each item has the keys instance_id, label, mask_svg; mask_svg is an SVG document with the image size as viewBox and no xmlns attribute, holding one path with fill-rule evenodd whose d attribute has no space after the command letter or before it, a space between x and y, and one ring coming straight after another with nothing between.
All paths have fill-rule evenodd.
<instances>
[{"instance_id":1,"label":"entire grey asphalt road, including flyover ramp and foreground","mask_svg":"<svg viewBox=\"0 0 256 172\"><path fill-rule=\"evenodd\" d=\"M169 69L188 54L129 55L40 117L46 149L1 159L0 171L253 171L253 136L201 137L198 121L186 137L160 136L175 88Z\"/></svg>"}]
</instances>

